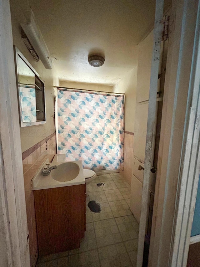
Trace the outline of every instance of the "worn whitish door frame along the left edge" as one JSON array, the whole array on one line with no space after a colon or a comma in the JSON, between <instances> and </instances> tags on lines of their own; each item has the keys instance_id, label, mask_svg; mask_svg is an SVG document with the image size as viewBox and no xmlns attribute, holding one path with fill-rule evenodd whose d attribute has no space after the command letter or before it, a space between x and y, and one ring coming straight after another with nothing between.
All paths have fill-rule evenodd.
<instances>
[{"instance_id":1,"label":"worn whitish door frame along the left edge","mask_svg":"<svg viewBox=\"0 0 200 267\"><path fill-rule=\"evenodd\" d=\"M3 266L30 266L17 88L8 0L0 0L0 224Z\"/></svg>"}]
</instances>

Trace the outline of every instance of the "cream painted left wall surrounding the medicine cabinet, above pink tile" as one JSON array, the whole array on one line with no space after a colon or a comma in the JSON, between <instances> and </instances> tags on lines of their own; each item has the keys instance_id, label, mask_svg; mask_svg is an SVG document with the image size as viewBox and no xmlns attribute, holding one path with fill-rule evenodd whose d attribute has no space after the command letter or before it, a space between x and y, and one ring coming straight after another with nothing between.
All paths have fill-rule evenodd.
<instances>
[{"instance_id":1,"label":"cream painted left wall surrounding the medicine cabinet, above pink tile","mask_svg":"<svg viewBox=\"0 0 200 267\"><path fill-rule=\"evenodd\" d=\"M53 85L58 86L59 81L54 68L45 69L42 62L36 62L21 38L21 28L11 9L13 44L22 52L28 62L44 80L46 94L47 122L43 125L20 128L22 152L34 146L39 141L55 132L54 126L54 93ZM17 88L16 88L17 90Z\"/></svg>"}]
</instances>

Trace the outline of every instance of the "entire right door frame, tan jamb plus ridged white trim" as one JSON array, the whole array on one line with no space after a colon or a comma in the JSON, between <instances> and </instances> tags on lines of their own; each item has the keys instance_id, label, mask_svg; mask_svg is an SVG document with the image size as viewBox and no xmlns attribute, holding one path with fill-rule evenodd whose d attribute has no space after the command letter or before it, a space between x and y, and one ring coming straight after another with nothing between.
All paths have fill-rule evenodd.
<instances>
[{"instance_id":1,"label":"entire right door frame, tan jamb plus ridged white trim","mask_svg":"<svg viewBox=\"0 0 200 267\"><path fill-rule=\"evenodd\" d=\"M148 261L153 267L187 264L200 171L199 1L175 0L172 9Z\"/></svg>"}]
</instances>

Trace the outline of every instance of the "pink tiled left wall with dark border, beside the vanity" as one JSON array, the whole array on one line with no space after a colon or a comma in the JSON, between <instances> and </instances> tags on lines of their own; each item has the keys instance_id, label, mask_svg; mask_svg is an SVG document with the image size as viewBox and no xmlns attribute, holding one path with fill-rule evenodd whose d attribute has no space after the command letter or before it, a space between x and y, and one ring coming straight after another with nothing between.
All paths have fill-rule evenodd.
<instances>
[{"instance_id":1,"label":"pink tiled left wall with dark border, beside the vanity","mask_svg":"<svg viewBox=\"0 0 200 267\"><path fill-rule=\"evenodd\" d=\"M22 153L31 267L35 266L38 256L35 206L33 191L31 191L31 180L44 160L48 157L49 162L51 162L55 154L57 154L55 133Z\"/></svg>"}]
</instances>

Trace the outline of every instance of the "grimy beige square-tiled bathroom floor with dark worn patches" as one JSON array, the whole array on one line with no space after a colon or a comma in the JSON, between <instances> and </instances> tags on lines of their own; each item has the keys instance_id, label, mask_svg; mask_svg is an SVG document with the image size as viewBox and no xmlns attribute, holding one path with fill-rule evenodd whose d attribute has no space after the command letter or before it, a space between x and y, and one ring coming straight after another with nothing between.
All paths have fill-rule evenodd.
<instances>
[{"instance_id":1,"label":"grimy beige square-tiled bathroom floor with dark worn patches","mask_svg":"<svg viewBox=\"0 0 200 267\"><path fill-rule=\"evenodd\" d=\"M92 213L87 206L80 248L43 256L37 267L136 267L139 225L129 209L129 184L111 173L98 176L88 189L87 203L95 200L102 211Z\"/></svg>"}]
</instances>

